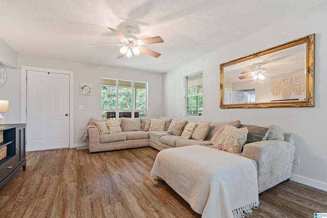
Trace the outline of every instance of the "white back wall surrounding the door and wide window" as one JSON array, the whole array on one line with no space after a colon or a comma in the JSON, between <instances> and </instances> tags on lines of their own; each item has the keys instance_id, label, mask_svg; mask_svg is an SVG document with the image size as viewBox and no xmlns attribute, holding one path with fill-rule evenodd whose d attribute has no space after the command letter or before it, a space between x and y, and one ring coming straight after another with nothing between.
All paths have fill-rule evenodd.
<instances>
[{"instance_id":1,"label":"white back wall surrounding the door and wide window","mask_svg":"<svg viewBox=\"0 0 327 218\"><path fill-rule=\"evenodd\" d=\"M74 71L74 147L84 147L83 135L89 118L101 118L101 78L148 82L148 116L162 114L162 75L120 68L90 65L35 56L18 55L18 68L6 68L7 82L0 87L0 99L9 100L9 112L4 113L7 124L20 123L20 67L33 66ZM80 83L92 84L92 95L80 94ZM83 105L83 110L78 110Z\"/></svg>"}]
</instances>

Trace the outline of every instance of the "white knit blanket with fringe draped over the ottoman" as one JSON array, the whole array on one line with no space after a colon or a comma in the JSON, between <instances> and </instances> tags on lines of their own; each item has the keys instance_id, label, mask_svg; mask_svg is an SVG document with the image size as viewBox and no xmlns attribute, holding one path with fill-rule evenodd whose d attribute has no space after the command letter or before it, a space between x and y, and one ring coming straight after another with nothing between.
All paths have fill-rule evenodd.
<instances>
[{"instance_id":1,"label":"white knit blanket with fringe draped over the ottoman","mask_svg":"<svg viewBox=\"0 0 327 218\"><path fill-rule=\"evenodd\" d=\"M244 217L259 206L253 162L204 146L160 151L151 175L162 178L192 209L206 217Z\"/></svg>"}]
</instances>

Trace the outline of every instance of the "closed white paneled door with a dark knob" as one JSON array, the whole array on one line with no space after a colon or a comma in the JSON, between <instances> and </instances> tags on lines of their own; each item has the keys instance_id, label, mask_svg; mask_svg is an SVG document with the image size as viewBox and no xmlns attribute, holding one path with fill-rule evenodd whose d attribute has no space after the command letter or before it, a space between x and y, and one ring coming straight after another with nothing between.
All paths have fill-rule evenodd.
<instances>
[{"instance_id":1,"label":"closed white paneled door with a dark knob","mask_svg":"<svg viewBox=\"0 0 327 218\"><path fill-rule=\"evenodd\" d=\"M27 151L69 148L69 75L27 70Z\"/></svg>"}]
</instances>

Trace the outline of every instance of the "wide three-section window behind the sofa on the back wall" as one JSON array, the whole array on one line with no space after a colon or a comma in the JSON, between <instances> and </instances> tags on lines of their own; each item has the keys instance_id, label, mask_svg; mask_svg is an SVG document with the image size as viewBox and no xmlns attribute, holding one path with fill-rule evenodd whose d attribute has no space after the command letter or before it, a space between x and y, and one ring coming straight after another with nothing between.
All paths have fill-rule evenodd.
<instances>
[{"instance_id":1,"label":"wide three-section window behind the sofa on the back wall","mask_svg":"<svg viewBox=\"0 0 327 218\"><path fill-rule=\"evenodd\" d=\"M102 79L101 114L103 118L141 117L147 114L147 83Z\"/></svg>"}]
</instances>

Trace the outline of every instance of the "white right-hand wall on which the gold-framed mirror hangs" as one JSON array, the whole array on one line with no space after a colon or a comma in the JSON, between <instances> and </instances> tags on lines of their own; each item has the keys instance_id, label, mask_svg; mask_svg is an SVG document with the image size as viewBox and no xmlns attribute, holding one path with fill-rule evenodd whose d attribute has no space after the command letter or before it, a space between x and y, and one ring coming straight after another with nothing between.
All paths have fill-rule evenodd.
<instances>
[{"instance_id":1,"label":"white right-hand wall on which the gold-framed mirror hangs","mask_svg":"<svg viewBox=\"0 0 327 218\"><path fill-rule=\"evenodd\" d=\"M203 117L198 120L268 126L278 124L295 136L300 165L293 166L291 180L327 190L327 3L289 17L259 33L229 44L198 60L177 67L163 77L164 115L184 117L183 77L203 71ZM260 19L260 18L258 18ZM315 33L315 107L312 108L219 108L219 64ZM191 119L190 117L186 117ZM195 119L192 117L192 119Z\"/></svg>"}]
</instances>

